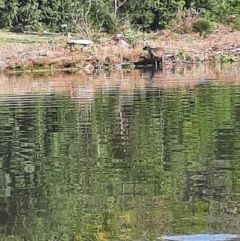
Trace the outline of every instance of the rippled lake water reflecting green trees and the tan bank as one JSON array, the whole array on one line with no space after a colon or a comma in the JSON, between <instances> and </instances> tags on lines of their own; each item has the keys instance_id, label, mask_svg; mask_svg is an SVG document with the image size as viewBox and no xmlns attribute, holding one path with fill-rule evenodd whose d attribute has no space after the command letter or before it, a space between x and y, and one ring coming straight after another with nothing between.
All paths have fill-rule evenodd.
<instances>
[{"instance_id":1,"label":"rippled lake water reflecting green trees and the tan bank","mask_svg":"<svg viewBox=\"0 0 240 241\"><path fill-rule=\"evenodd\" d=\"M239 70L184 71L2 76L0 240L239 233Z\"/></svg>"}]
</instances>

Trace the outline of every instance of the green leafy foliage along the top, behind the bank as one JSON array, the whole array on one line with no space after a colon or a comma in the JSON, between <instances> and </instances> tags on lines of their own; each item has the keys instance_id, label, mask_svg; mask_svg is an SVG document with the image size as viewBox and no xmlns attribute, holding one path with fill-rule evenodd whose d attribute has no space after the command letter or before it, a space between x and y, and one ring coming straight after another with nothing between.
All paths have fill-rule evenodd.
<instances>
[{"instance_id":1,"label":"green leafy foliage along the top, behind the bank","mask_svg":"<svg viewBox=\"0 0 240 241\"><path fill-rule=\"evenodd\" d=\"M13 27L22 24L31 30L49 28L60 31L68 24L68 31L94 29L104 32L121 30L129 21L136 29L152 31L171 28L181 13L188 10L201 13L210 21L224 22L227 14L240 16L239 0L0 0L0 24ZM182 15L183 16L183 15ZM184 17L184 16L183 16Z\"/></svg>"}]
</instances>

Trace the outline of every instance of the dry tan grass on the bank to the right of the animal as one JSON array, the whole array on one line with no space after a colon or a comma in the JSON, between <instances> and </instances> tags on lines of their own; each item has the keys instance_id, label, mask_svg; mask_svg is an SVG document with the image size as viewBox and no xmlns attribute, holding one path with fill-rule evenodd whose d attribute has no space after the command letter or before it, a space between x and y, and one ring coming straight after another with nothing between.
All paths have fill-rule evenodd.
<instances>
[{"instance_id":1,"label":"dry tan grass on the bank to the right of the animal","mask_svg":"<svg viewBox=\"0 0 240 241\"><path fill-rule=\"evenodd\" d=\"M155 46L165 48L167 52L177 56L178 61L213 62L218 55L237 61L240 54L239 38L240 32L229 32L228 27L220 26L205 39L198 34L165 32L158 38L155 37Z\"/></svg>"}]
</instances>

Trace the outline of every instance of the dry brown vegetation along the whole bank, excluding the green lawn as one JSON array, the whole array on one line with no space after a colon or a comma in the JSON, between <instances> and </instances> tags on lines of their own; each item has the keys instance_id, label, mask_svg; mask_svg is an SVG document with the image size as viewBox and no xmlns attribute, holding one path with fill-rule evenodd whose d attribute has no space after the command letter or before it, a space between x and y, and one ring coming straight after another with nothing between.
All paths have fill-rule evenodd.
<instances>
[{"instance_id":1,"label":"dry brown vegetation along the whole bank, excluding the green lawn","mask_svg":"<svg viewBox=\"0 0 240 241\"><path fill-rule=\"evenodd\" d=\"M162 31L153 36L151 47L165 49L166 63L199 63L238 61L240 54L240 32L229 32L227 27L219 27L207 38L197 34L177 34ZM140 41L138 41L140 43ZM59 44L6 44L0 47L0 68L9 73L13 70L79 70L92 71L95 66L122 65L125 61L138 62L150 59L143 51L142 44L134 47L118 46L113 41L102 41L88 48L66 48L66 43Z\"/></svg>"}]
</instances>

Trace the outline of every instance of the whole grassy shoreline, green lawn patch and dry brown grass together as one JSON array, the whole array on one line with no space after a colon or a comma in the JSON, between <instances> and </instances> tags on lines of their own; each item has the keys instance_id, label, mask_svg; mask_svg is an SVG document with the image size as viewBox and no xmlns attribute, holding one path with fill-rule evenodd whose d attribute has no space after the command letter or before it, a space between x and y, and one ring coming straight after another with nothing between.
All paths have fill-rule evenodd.
<instances>
[{"instance_id":1,"label":"whole grassy shoreline, green lawn patch and dry brown grass together","mask_svg":"<svg viewBox=\"0 0 240 241\"><path fill-rule=\"evenodd\" d=\"M166 50L166 65L178 63L226 63L240 60L240 32L220 26L207 38L198 34L161 31L156 34L126 33L134 47L115 45L113 36L99 36L89 48L66 48L68 38L59 34L16 34L0 31L0 68L5 74L48 71L91 72L97 68L134 68L141 58L149 59L142 48L146 42ZM77 35L74 36L77 39Z\"/></svg>"}]
</instances>

